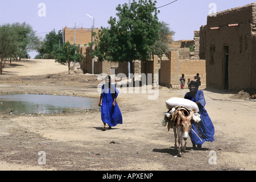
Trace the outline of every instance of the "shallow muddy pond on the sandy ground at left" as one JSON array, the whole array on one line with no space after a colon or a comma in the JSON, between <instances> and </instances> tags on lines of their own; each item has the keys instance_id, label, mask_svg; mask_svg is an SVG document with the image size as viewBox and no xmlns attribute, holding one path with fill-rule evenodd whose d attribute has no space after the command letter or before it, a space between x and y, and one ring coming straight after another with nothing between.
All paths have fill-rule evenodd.
<instances>
[{"instance_id":1,"label":"shallow muddy pond on the sandy ground at left","mask_svg":"<svg viewBox=\"0 0 256 182\"><path fill-rule=\"evenodd\" d=\"M40 94L2 94L0 112L13 113L63 113L92 109L98 106L98 99L88 97L52 96Z\"/></svg>"}]
</instances>

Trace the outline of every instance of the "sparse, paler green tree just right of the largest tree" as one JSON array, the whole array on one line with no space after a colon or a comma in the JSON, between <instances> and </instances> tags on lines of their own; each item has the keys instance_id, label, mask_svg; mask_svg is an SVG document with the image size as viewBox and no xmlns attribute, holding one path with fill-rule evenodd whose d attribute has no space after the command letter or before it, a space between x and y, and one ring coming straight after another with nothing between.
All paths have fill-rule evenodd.
<instances>
[{"instance_id":1,"label":"sparse, paler green tree just right of the largest tree","mask_svg":"<svg viewBox=\"0 0 256 182\"><path fill-rule=\"evenodd\" d=\"M170 30L169 24L166 22L159 22L159 39L156 40L152 49L152 55L157 55L158 57L162 57L163 54L169 57L169 48L168 44L171 44L171 35L175 35L174 31Z\"/></svg>"}]
</instances>

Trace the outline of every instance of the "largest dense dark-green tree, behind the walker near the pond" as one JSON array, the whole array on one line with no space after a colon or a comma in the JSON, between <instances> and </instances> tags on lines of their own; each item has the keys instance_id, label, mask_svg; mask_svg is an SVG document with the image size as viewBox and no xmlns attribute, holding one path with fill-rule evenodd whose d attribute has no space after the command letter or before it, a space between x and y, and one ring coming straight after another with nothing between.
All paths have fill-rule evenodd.
<instances>
[{"instance_id":1,"label":"largest dense dark-green tree, behind the walker near the pond","mask_svg":"<svg viewBox=\"0 0 256 182\"><path fill-rule=\"evenodd\" d=\"M109 28L101 27L93 56L100 61L130 62L148 60L151 46L159 39L156 1L139 0L118 5L117 18L110 17ZM133 71L131 64L131 70Z\"/></svg>"}]
</instances>

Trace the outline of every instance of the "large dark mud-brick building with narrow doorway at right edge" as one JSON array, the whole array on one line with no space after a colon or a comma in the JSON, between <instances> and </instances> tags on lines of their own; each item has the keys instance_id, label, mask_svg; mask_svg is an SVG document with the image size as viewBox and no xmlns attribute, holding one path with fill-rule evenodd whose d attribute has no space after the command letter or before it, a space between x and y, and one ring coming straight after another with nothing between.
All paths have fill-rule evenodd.
<instances>
[{"instance_id":1,"label":"large dark mud-brick building with narrow doorway at right edge","mask_svg":"<svg viewBox=\"0 0 256 182\"><path fill-rule=\"evenodd\" d=\"M206 60L207 86L256 89L256 3L208 15L199 56Z\"/></svg>"}]
</instances>

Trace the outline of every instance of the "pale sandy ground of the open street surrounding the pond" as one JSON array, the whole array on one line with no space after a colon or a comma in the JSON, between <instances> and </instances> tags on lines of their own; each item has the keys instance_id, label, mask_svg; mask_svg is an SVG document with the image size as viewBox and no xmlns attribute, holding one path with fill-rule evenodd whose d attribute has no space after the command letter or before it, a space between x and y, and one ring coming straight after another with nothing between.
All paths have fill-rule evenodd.
<instances>
[{"instance_id":1,"label":"pale sandy ground of the open street surrounding the pond","mask_svg":"<svg viewBox=\"0 0 256 182\"><path fill-rule=\"evenodd\" d=\"M77 68L69 75L67 65L54 60L13 61L0 75L0 92L99 98L97 78ZM204 143L200 150L193 150L189 139L186 151L176 156L174 133L162 126L165 101L183 98L188 89L159 86L155 100L148 100L149 92L120 93L123 124L113 130L101 130L97 105L74 113L1 113L0 170L255 170L256 101L199 89L215 127L214 142ZM39 163L40 151L45 152L44 164Z\"/></svg>"}]
</instances>

